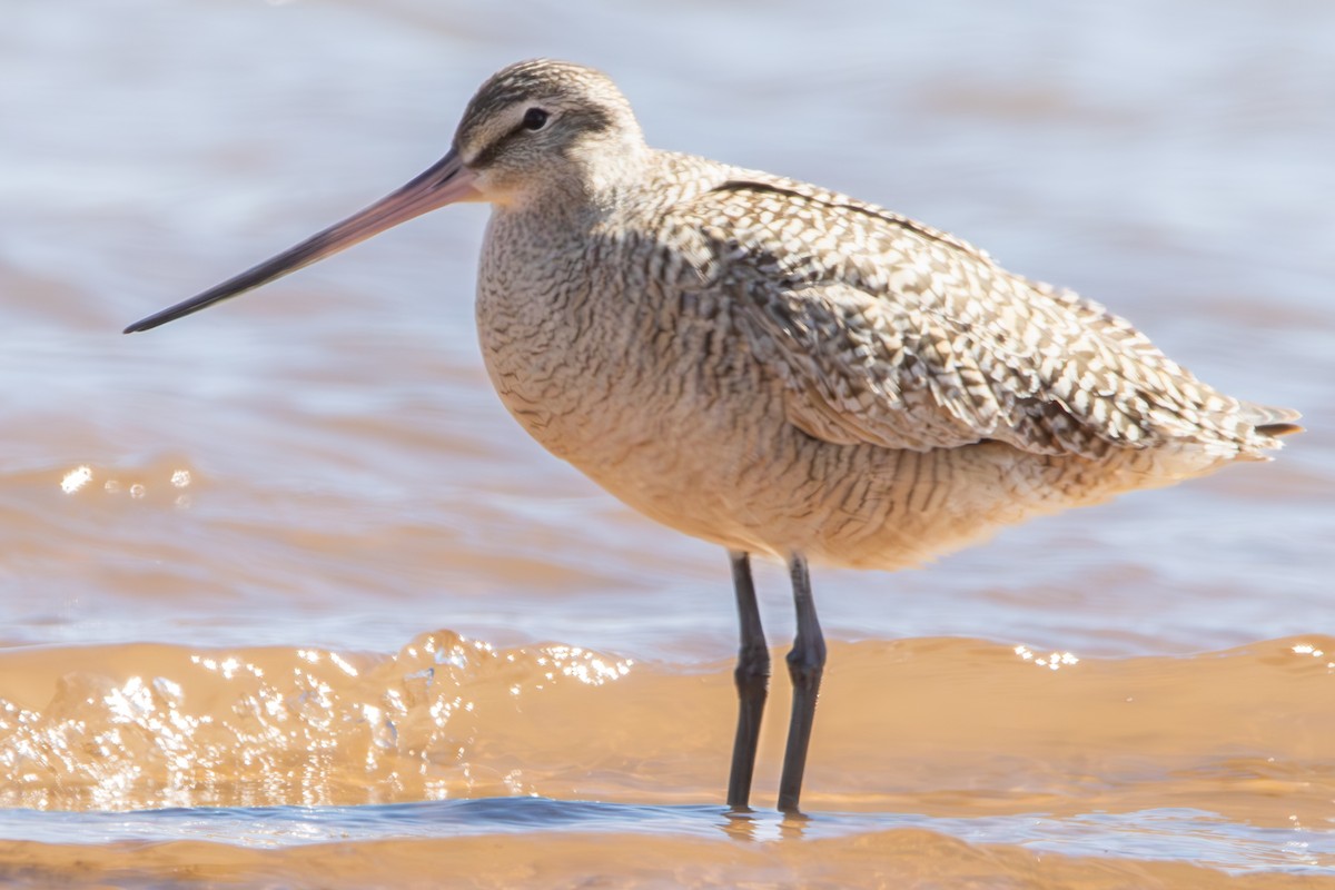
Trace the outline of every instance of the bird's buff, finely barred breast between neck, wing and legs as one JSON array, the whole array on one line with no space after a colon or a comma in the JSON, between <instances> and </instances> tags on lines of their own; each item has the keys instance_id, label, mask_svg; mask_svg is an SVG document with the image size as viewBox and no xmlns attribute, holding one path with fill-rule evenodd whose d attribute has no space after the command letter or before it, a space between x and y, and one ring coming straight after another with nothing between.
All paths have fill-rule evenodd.
<instances>
[{"instance_id":1,"label":"bird's buff, finely barred breast between neck, wing and legs","mask_svg":"<svg viewBox=\"0 0 1335 890\"><path fill-rule=\"evenodd\" d=\"M730 540L748 476L788 424L728 303L676 287L651 247L533 244L493 226L481 264L478 331L501 400L621 500Z\"/></svg>"}]
</instances>

